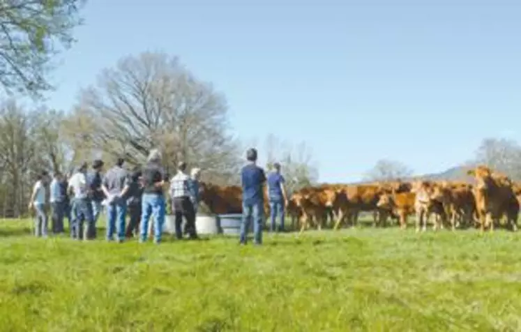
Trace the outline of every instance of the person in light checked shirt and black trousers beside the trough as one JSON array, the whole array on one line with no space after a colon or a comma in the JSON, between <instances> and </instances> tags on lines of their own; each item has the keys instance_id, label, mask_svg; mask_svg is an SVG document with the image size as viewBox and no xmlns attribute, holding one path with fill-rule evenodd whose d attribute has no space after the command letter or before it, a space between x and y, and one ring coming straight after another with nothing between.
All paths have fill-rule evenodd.
<instances>
[{"instance_id":1,"label":"person in light checked shirt and black trousers beside the trough","mask_svg":"<svg viewBox=\"0 0 521 332\"><path fill-rule=\"evenodd\" d=\"M195 230L195 213L192 200L190 199L189 188L190 176L186 174L186 163L180 162L177 165L177 174L170 180L170 197L172 197L172 206L174 206L174 214L176 216L175 229L176 238L182 239L183 232L181 225L183 224L183 216L186 219L186 232L190 239L197 239Z\"/></svg>"}]
</instances>

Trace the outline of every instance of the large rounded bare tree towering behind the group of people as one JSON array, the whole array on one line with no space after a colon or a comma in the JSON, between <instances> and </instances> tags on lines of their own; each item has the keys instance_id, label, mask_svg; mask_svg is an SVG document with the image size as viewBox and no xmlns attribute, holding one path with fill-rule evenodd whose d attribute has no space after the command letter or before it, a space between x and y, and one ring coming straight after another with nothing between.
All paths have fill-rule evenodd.
<instances>
[{"instance_id":1,"label":"large rounded bare tree towering behind the group of people","mask_svg":"<svg viewBox=\"0 0 521 332\"><path fill-rule=\"evenodd\" d=\"M96 119L96 131L88 133L93 145L126 153L131 163L159 148L167 169L185 160L213 180L237 172L239 151L228 133L225 97L176 57L146 52L121 59L96 86L81 91L77 114Z\"/></svg>"}]
</instances>

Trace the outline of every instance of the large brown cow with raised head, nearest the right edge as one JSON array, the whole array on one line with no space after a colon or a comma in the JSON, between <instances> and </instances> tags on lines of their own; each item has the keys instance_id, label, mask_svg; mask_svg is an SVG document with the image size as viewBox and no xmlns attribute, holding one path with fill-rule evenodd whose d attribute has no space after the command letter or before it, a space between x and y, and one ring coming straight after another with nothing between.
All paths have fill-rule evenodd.
<instances>
[{"instance_id":1,"label":"large brown cow with raised head, nearest the right edge","mask_svg":"<svg viewBox=\"0 0 521 332\"><path fill-rule=\"evenodd\" d=\"M474 197L481 232L485 227L490 227L490 232L494 232L494 222L499 222L503 215L506 216L507 224L511 225L512 230L517 230L520 204L515 197L511 180L507 176L492 172L484 165L469 169L467 174L476 179Z\"/></svg>"}]
</instances>

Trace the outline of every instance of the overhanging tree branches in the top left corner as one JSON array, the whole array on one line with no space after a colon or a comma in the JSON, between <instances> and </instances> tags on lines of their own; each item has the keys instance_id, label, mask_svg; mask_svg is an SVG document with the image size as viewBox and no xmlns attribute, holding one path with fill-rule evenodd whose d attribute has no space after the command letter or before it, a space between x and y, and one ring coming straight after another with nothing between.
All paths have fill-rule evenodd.
<instances>
[{"instance_id":1,"label":"overhanging tree branches in the top left corner","mask_svg":"<svg viewBox=\"0 0 521 332\"><path fill-rule=\"evenodd\" d=\"M3 0L0 3L0 84L36 97L52 89L47 73L60 47L74 42L84 0Z\"/></svg>"}]
</instances>

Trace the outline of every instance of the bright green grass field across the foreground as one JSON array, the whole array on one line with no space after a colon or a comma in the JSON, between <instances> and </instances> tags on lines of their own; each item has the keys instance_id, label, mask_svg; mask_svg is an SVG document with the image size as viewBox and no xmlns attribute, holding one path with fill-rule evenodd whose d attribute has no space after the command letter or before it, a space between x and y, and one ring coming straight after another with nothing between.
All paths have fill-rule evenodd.
<instances>
[{"instance_id":1,"label":"bright green grass field across the foreground","mask_svg":"<svg viewBox=\"0 0 521 332\"><path fill-rule=\"evenodd\" d=\"M396 228L160 246L0 222L0 331L520 331L521 234Z\"/></svg>"}]
</instances>

